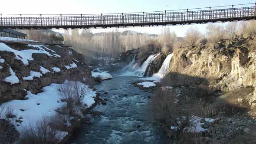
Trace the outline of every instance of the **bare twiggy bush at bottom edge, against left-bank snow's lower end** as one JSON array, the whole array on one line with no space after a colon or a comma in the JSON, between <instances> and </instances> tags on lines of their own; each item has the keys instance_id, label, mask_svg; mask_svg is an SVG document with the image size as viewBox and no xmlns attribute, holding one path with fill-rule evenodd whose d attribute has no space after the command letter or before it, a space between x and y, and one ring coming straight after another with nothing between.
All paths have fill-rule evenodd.
<instances>
[{"instance_id":1,"label":"bare twiggy bush at bottom edge, against left-bank snow's lower end","mask_svg":"<svg viewBox=\"0 0 256 144\"><path fill-rule=\"evenodd\" d=\"M49 124L56 119L42 117L36 123L23 126L21 133L21 144L59 144L65 136L61 131L51 127Z\"/></svg>"}]
</instances>

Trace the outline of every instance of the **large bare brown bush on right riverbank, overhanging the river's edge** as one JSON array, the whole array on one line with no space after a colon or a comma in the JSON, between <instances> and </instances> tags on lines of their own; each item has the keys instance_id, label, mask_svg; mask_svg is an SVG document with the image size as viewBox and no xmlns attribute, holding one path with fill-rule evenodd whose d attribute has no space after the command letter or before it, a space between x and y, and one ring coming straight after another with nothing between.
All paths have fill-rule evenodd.
<instances>
[{"instance_id":1,"label":"large bare brown bush on right riverbank, overhanging the river's edge","mask_svg":"<svg viewBox=\"0 0 256 144\"><path fill-rule=\"evenodd\" d=\"M178 126L174 133L169 133L169 137L177 136L184 128L191 125L190 120L200 111L197 105L191 105L189 101L179 104L175 102L175 94L169 90L159 90L153 96L153 111L156 122L168 127Z\"/></svg>"}]
</instances>

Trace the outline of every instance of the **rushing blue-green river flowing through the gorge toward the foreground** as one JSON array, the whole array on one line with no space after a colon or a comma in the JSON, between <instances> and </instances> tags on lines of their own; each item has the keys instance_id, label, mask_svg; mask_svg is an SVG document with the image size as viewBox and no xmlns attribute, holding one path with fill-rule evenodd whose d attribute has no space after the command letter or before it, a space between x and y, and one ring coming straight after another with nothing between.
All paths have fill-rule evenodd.
<instances>
[{"instance_id":1,"label":"rushing blue-green river flowing through the gorge toward the foreground","mask_svg":"<svg viewBox=\"0 0 256 144\"><path fill-rule=\"evenodd\" d=\"M69 143L75 144L163 144L161 128L152 124L151 93L134 85L136 76L120 76L122 71L111 72L114 79L95 84L107 105L93 110L103 114L91 117L92 124L83 125ZM108 92L104 95L104 92Z\"/></svg>"}]
</instances>

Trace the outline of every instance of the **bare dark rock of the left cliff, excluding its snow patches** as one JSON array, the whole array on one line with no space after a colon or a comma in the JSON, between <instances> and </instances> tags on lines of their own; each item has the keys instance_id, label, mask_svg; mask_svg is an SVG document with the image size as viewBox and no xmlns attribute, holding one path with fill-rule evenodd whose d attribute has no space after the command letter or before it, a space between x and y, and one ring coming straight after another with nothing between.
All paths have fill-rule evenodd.
<instances>
[{"instance_id":1,"label":"bare dark rock of the left cliff, excluding its snow patches","mask_svg":"<svg viewBox=\"0 0 256 144\"><path fill-rule=\"evenodd\" d=\"M9 45L8 45L9 46ZM12 49L24 50L24 49L37 49L32 46L27 45L10 45ZM24 65L21 60L15 59L15 54L13 52L0 51L0 56L5 62L0 63L3 67L0 69L0 103L10 101L12 99L23 99L30 91L34 94L42 92L42 88L50 85L51 83L63 83L65 79L83 81L83 78L91 77L91 71L87 68L84 62L82 54L75 52L73 49L59 47L59 46L46 46L42 47L50 54L57 54L47 56L42 53L33 53L32 57L34 60L29 61L29 65ZM55 51L51 51L51 50ZM65 65L70 65L72 63L77 65L77 68L67 69ZM40 71L40 66L49 70L43 74ZM4 79L10 76L10 67L19 79L19 83L10 84L5 82ZM59 68L60 72L54 72L53 67ZM33 80L23 80L23 77L30 75L30 71L40 72L42 76L40 78L34 77Z\"/></svg>"}]
</instances>

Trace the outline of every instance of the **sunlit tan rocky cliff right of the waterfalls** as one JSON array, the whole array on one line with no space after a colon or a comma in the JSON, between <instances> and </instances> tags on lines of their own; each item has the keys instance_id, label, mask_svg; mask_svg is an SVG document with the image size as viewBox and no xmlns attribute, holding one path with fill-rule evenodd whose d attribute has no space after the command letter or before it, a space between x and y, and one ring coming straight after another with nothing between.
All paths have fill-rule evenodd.
<instances>
[{"instance_id":1,"label":"sunlit tan rocky cliff right of the waterfalls","mask_svg":"<svg viewBox=\"0 0 256 144\"><path fill-rule=\"evenodd\" d=\"M212 88L221 91L256 86L256 37L177 49L169 72L207 79ZM197 83L195 79L182 81L191 85ZM254 105L253 100L248 100L251 105Z\"/></svg>"}]
</instances>

